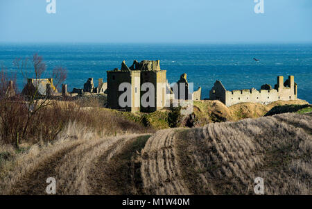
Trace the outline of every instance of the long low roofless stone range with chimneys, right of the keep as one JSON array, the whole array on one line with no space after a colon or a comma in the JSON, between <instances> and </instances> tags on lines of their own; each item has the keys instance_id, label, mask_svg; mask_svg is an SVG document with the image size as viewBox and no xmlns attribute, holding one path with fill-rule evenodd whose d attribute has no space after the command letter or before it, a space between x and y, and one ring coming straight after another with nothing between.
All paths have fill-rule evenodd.
<instances>
[{"instance_id":1,"label":"long low roofless stone range with chimneys, right of the keep","mask_svg":"<svg viewBox=\"0 0 312 209\"><path fill-rule=\"evenodd\" d=\"M284 83L283 76L277 76L277 84L274 89L268 84L262 85L261 90L254 88L248 90L227 91L221 81L216 81L209 92L209 99L220 100L226 106L232 106L241 102L255 102L268 104L277 100L297 99L297 83L294 76L288 76Z\"/></svg>"}]
</instances>

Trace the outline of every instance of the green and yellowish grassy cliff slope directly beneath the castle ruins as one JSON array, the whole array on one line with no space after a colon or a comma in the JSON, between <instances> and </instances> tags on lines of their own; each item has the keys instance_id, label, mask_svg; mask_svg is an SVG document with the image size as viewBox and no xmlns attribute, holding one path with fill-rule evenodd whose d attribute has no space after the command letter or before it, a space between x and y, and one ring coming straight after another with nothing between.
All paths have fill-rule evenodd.
<instances>
[{"instance_id":1,"label":"green and yellowish grassy cliff slope directly beneath the castle ruins","mask_svg":"<svg viewBox=\"0 0 312 209\"><path fill-rule=\"evenodd\" d=\"M164 128L175 127L200 127L205 126L211 122L236 122L245 118L258 118L265 115L270 115L268 112L270 112L272 109L275 114L297 112L299 110L301 111L303 108L305 109L302 112L311 112L311 108L306 108L308 105L308 102L300 99L291 101L275 101L268 105L263 105L260 103L238 103L230 107L225 106L218 100L194 101L193 116L195 118L192 122L190 122L189 115L177 115L176 108L164 109L151 113L119 113L130 121L138 122L148 128L161 130ZM284 108L286 106L291 106L293 108Z\"/></svg>"}]
</instances>

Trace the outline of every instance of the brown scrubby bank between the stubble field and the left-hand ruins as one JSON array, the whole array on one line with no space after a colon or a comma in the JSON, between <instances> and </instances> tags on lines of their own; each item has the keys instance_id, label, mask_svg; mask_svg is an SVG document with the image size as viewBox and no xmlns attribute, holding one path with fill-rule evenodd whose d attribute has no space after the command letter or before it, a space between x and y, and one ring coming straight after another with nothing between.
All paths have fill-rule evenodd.
<instances>
[{"instance_id":1,"label":"brown scrubby bank between the stubble field and the left-hand ruins","mask_svg":"<svg viewBox=\"0 0 312 209\"><path fill-rule=\"evenodd\" d=\"M17 140L18 144L52 142L71 122L102 136L153 132L153 128L133 122L119 112L99 107L80 107L73 101L49 101L49 106L31 117L23 134L27 119L25 103L3 102L6 102L5 108L0 106L0 142L3 144L16 145Z\"/></svg>"}]
</instances>

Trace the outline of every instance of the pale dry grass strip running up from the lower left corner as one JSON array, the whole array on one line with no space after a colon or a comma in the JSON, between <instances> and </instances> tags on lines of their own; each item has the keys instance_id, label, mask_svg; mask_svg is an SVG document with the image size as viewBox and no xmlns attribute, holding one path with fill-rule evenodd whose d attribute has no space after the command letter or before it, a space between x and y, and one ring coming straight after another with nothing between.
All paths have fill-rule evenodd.
<instances>
[{"instance_id":1,"label":"pale dry grass strip running up from the lower left corner","mask_svg":"<svg viewBox=\"0 0 312 209\"><path fill-rule=\"evenodd\" d=\"M44 168L47 166L49 168L49 159L66 153L71 147L78 146L82 140L87 140L89 136L90 133L85 131L85 128L68 128L66 137L62 136L55 143L48 143L44 147L35 144L28 151L19 153L11 160L6 160L1 165L0 194L20 194L23 192L27 194L31 192L28 188L35 187L35 183L28 185L28 179L36 182L37 177L31 174L37 172L40 175L38 171L44 173ZM74 140L78 138L80 140Z\"/></svg>"}]
</instances>

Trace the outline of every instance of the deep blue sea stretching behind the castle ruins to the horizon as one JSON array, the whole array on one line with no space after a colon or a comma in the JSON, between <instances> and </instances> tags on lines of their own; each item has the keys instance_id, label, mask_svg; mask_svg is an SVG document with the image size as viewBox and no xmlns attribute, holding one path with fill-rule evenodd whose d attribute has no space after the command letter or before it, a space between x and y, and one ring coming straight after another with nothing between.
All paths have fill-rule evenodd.
<instances>
[{"instance_id":1,"label":"deep blue sea stretching behind the castle ruins to the horizon","mask_svg":"<svg viewBox=\"0 0 312 209\"><path fill-rule=\"evenodd\" d=\"M312 103L312 44L0 44L0 65L14 71L17 57L44 57L49 77L54 66L67 67L69 90L83 87L87 78L106 81L106 70L128 66L133 60L161 60L169 83L187 73L194 90L202 87L203 98L218 79L227 90L274 86L278 75L295 76L298 97ZM260 59L255 62L252 58ZM23 80L17 75L19 88Z\"/></svg>"}]
</instances>

